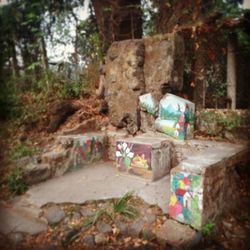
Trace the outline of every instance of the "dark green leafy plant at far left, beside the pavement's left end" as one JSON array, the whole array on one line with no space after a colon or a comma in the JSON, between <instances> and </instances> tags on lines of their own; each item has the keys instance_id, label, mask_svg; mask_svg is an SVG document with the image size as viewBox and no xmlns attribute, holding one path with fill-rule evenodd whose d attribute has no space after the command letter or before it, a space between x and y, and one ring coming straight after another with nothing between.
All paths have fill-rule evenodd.
<instances>
[{"instance_id":1,"label":"dark green leafy plant at far left, beside the pavement's left end","mask_svg":"<svg viewBox=\"0 0 250 250\"><path fill-rule=\"evenodd\" d=\"M17 168L8 175L7 186L9 191L16 195L23 194L28 190L28 185L24 180L23 171L21 169Z\"/></svg>"}]
</instances>

